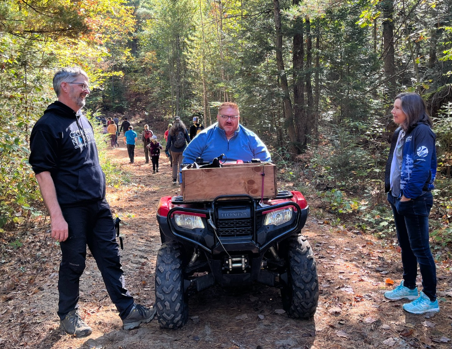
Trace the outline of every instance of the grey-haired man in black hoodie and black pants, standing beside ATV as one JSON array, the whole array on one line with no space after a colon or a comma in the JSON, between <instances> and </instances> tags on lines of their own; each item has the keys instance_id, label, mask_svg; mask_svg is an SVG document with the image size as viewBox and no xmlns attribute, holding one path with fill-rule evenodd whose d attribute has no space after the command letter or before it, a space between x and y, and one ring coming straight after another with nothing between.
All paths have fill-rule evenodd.
<instances>
[{"instance_id":1,"label":"grey-haired man in black hoodie and black pants, standing beside ATV","mask_svg":"<svg viewBox=\"0 0 452 349\"><path fill-rule=\"evenodd\" d=\"M105 175L93 128L81 113L90 93L88 81L80 68L60 69L53 79L58 101L47 108L30 136L29 162L49 210L51 237L60 242L62 253L58 280L60 327L75 336L92 332L78 310L86 245L124 329L149 322L155 315L154 308L134 303L125 288L113 217L105 199Z\"/></svg>"}]
</instances>

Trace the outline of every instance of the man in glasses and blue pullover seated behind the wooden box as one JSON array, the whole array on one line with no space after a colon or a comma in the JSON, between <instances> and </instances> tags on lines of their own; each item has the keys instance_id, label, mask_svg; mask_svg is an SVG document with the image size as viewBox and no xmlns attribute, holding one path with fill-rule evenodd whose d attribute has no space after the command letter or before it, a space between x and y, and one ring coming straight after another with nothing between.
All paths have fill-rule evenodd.
<instances>
[{"instance_id":1,"label":"man in glasses and blue pullover seated behind the wooden box","mask_svg":"<svg viewBox=\"0 0 452 349\"><path fill-rule=\"evenodd\" d=\"M210 162L224 154L223 161L271 161L266 145L252 131L239 124L240 111L235 103L226 102L218 108L217 123L204 129L183 152L183 164L195 162L197 157Z\"/></svg>"}]
</instances>

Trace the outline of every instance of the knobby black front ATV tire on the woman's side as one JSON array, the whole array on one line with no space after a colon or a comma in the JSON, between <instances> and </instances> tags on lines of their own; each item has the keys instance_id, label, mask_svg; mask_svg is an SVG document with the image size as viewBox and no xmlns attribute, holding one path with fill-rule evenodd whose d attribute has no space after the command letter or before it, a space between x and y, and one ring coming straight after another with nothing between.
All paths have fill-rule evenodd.
<instances>
[{"instance_id":1,"label":"knobby black front ATV tire on the woman's side","mask_svg":"<svg viewBox=\"0 0 452 349\"><path fill-rule=\"evenodd\" d=\"M314 316L319 301L319 279L314 253L306 237L288 241L288 281L281 289L283 308L292 317Z\"/></svg>"}]
</instances>

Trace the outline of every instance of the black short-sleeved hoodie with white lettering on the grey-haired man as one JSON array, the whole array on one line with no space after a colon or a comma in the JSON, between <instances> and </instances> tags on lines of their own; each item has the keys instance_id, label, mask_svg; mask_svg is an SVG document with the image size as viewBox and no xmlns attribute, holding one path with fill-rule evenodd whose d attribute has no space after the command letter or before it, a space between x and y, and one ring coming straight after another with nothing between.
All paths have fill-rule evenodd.
<instances>
[{"instance_id":1,"label":"black short-sleeved hoodie with white lettering on the grey-haired man","mask_svg":"<svg viewBox=\"0 0 452 349\"><path fill-rule=\"evenodd\" d=\"M94 131L84 116L52 103L30 136L33 171L49 171L61 206L79 206L105 197L105 174L99 165Z\"/></svg>"}]
</instances>

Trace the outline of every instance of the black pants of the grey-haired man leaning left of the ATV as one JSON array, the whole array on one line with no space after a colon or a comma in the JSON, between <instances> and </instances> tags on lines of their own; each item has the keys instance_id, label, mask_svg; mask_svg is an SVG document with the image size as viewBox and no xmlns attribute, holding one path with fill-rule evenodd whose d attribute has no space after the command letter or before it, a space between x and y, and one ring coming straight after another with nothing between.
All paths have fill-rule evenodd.
<instances>
[{"instance_id":1,"label":"black pants of the grey-haired man leaning left of the ATV","mask_svg":"<svg viewBox=\"0 0 452 349\"><path fill-rule=\"evenodd\" d=\"M99 268L111 301L125 318L133 307L133 297L125 288L124 271L110 206L105 199L78 207L62 207L69 236L60 242L61 263L58 280L58 316L78 307L79 280L85 269L86 245Z\"/></svg>"}]
</instances>

